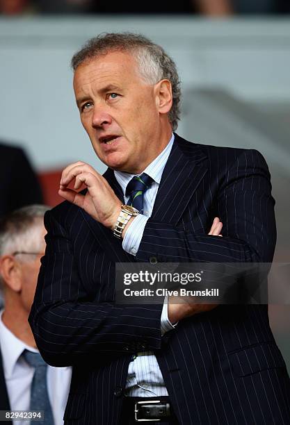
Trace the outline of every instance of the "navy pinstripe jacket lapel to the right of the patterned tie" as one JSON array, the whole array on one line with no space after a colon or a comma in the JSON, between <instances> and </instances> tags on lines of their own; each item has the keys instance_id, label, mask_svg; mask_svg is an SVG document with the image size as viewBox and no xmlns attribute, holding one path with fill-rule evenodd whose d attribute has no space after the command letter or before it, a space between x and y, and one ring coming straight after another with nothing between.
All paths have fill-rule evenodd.
<instances>
[{"instance_id":1,"label":"navy pinstripe jacket lapel to the right of the patterned tie","mask_svg":"<svg viewBox=\"0 0 290 425\"><path fill-rule=\"evenodd\" d=\"M175 134L152 219L176 225L207 171L208 159L198 144L186 142Z\"/></svg>"}]
</instances>

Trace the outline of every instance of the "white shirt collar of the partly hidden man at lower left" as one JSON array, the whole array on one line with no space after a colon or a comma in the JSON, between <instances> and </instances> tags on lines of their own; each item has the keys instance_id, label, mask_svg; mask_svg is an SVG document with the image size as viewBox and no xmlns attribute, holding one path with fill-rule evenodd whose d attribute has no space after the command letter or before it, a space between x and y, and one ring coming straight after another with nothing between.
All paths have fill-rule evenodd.
<instances>
[{"instance_id":1,"label":"white shirt collar of the partly hidden man at lower left","mask_svg":"<svg viewBox=\"0 0 290 425\"><path fill-rule=\"evenodd\" d=\"M17 360L22 355L24 349L38 353L38 350L29 347L22 340L19 340L14 333L2 322L3 310L0 311L0 347L3 359L3 370L6 379L11 378Z\"/></svg>"}]
</instances>

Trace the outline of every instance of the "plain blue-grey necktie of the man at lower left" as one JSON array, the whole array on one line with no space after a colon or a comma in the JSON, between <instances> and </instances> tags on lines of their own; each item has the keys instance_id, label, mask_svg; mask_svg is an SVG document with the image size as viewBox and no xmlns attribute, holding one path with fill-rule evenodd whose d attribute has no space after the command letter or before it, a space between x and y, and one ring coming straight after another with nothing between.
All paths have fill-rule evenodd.
<instances>
[{"instance_id":1,"label":"plain blue-grey necktie of the man at lower left","mask_svg":"<svg viewBox=\"0 0 290 425\"><path fill-rule=\"evenodd\" d=\"M29 410L43 410L45 412L45 420L42 424L54 425L54 417L52 415L47 391L47 363L45 363L45 360L40 356L40 353L24 350L22 356L26 362L35 369L31 383Z\"/></svg>"}]
</instances>

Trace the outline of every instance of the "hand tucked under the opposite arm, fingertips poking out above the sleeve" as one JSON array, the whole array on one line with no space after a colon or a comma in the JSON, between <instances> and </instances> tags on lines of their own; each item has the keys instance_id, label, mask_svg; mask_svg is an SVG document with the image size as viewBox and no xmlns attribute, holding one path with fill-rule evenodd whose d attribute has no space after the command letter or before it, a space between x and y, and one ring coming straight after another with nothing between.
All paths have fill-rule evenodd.
<instances>
[{"instance_id":1,"label":"hand tucked under the opposite arm, fingertips poking out above the sleeve","mask_svg":"<svg viewBox=\"0 0 290 425\"><path fill-rule=\"evenodd\" d=\"M222 228L223 223L220 222L218 217L215 217L209 235L222 237L223 235L220 234ZM195 297L169 297L168 319L174 324L185 317L191 317L198 313L213 310L216 306L218 306L218 304L195 303Z\"/></svg>"}]
</instances>

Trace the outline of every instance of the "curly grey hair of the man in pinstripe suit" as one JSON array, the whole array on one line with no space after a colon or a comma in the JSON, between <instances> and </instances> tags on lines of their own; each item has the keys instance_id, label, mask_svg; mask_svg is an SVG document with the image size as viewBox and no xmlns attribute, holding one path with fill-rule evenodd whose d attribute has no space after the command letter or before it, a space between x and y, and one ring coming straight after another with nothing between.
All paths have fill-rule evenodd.
<instances>
[{"instance_id":1,"label":"curly grey hair of the man in pinstripe suit","mask_svg":"<svg viewBox=\"0 0 290 425\"><path fill-rule=\"evenodd\" d=\"M172 131L177 129L180 115L181 90L177 67L158 44L143 35L134 33L102 33L86 42L81 50L72 57L72 69L75 71L81 63L99 56L106 56L110 51L127 51L133 54L138 63L140 75L148 84L156 84L163 79L172 85L172 108L168 118Z\"/></svg>"}]
</instances>

